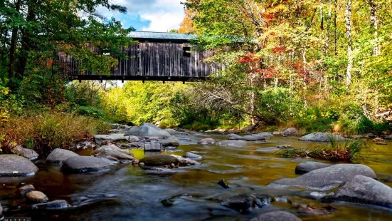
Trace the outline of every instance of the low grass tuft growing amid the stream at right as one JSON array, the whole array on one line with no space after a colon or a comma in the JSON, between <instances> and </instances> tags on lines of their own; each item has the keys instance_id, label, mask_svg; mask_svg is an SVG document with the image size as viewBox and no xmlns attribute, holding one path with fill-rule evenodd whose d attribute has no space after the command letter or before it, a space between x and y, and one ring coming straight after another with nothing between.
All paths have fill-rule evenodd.
<instances>
[{"instance_id":1,"label":"low grass tuft growing amid the stream at right","mask_svg":"<svg viewBox=\"0 0 392 221\"><path fill-rule=\"evenodd\" d=\"M312 148L289 148L274 153L281 158L314 158L319 160L342 161L350 163L361 156L366 150L371 150L371 144L363 139L351 139L339 142L330 136L327 145L319 145Z\"/></svg>"}]
</instances>

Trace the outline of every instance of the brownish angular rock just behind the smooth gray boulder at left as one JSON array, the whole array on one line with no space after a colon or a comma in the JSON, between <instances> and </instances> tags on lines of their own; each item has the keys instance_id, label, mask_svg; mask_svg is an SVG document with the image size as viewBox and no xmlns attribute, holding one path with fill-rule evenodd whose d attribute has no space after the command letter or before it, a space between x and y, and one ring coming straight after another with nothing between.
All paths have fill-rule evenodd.
<instances>
[{"instance_id":1,"label":"brownish angular rock just behind the smooth gray boulder at left","mask_svg":"<svg viewBox=\"0 0 392 221\"><path fill-rule=\"evenodd\" d=\"M108 160L122 161L122 160L134 160L134 155L129 153L127 150L122 150L115 145L105 145L92 153L96 158L106 158Z\"/></svg>"}]
</instances>

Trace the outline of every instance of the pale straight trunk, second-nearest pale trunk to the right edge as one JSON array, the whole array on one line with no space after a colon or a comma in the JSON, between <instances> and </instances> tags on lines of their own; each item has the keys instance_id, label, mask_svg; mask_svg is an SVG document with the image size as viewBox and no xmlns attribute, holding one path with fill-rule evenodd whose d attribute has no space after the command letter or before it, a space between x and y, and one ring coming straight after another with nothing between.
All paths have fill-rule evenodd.
<instances>
[{"instance_id":1,"label":"pale straight trunk, second-nearest pale trunk to the right edge","mask_svg":"<svg viewBox=\"0 0 392 221\"><path fill-rule=\"evenodd\" d=\"M346 35L347 35L347 74L346 74L346 85L349 86L351 84L351 71L353 66L353 48L352 48L352 36L351 36L351 29L352 29L352 2L351 0L347 0L346 3L346 14L344 15L344 21L346 22Z\"/></svg>"}]
</instances>

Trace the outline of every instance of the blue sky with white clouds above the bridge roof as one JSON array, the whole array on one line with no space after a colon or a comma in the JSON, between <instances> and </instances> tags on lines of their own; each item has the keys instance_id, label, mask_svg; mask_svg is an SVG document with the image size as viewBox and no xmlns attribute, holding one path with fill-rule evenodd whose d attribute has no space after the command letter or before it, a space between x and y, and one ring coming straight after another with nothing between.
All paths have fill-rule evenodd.
<instances>
[{"instance_id":1,"label":"blue sky with white clouds above the bridge roof","mask_svg":"<svg viewBox=\"0 0 392 221\"><path fill-rule=\"evenodd\" d=\"M182 0L185 1L185 0ZM181 0L112 0L112 4L127 7L127 14L98 8L107 19L115 17L122 26L134 27L136 31L170 31L179 29L184 18Z\"/></svg>"}]
</instances>

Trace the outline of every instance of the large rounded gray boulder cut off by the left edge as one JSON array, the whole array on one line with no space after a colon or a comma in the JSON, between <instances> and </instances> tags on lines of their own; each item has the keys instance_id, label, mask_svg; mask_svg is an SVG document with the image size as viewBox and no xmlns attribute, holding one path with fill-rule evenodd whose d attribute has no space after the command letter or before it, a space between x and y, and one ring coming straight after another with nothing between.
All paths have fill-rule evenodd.
<instances>
[{"instance_id":1,"label":"large rounded gray boulder cut off by the left edge","mask_svg":"<svg viewBox=\"0 0 392 221\"><path fill-rule=\"evenodd\" d=\"M38 171L30 160L16 154L0 154L0 177L34 175Z\"/></svg>"}]
</instances>

